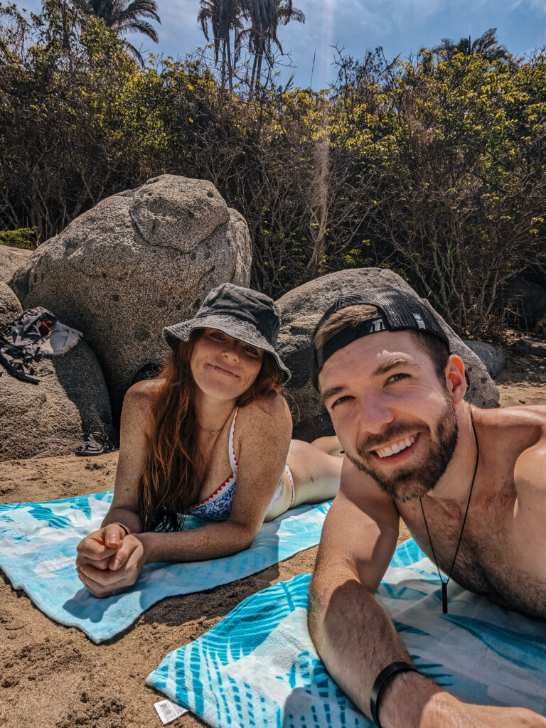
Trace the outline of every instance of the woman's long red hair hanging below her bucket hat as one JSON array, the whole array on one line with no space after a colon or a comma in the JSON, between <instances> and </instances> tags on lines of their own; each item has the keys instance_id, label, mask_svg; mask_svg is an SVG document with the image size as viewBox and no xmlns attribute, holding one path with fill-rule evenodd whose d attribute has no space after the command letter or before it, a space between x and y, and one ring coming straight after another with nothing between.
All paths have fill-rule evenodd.
<instances>
[{"instance_id":1,"label":"woman's long red hair hanging below her bucket hat","mask_svg":"<svg viewBox=\"0 0 546 728\"><path fill-rule=\"evenodd\" d=\"M152 430L138 483L143 531L179 531L184 513L199 497L202 483L197 467L198 428L190 360L201 334L198 330L190 341L181 341L158 376L162 386L152 407ZM256 381L239 397L237 406L245 407L280 392L281 387L280 369L274 357L265 352Z\"/></svg>"}]
</instances>

